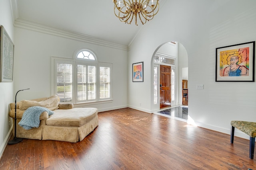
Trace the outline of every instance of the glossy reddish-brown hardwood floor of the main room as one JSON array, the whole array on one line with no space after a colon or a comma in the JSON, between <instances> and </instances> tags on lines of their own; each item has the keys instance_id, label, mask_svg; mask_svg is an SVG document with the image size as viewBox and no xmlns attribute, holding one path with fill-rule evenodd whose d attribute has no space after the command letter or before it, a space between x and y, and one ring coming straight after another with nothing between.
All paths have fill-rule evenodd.
<instances>
[{"instance_id":1,"label":"glossy reddish-brown hardwood floor of the main room","mask_svg":"<svg viewBox=\"0 0 256 170\"><path fill-rule=\"evenodd\" d=\"M24 139L8 145L1 170L256 170L249 140L134 109L98 113L83 141Z\"/></svg>"}]
</instances>

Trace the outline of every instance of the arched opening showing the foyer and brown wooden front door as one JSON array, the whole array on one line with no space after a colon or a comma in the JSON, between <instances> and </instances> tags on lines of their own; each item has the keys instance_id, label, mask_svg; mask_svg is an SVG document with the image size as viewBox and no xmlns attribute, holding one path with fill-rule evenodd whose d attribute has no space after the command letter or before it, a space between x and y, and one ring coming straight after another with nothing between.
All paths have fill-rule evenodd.
<instances>
[{"instance_id":1,"label":"arched opening showing the foyer and brown wooden front door","mask_svg":"<svg viewBox=\"0 0 256 170\"><path fill-rule=\"evenodd\" d=\"M151 62L153 70L151 72L153 80L151 91L153 110L156 111L162 109L161 103L164 102L168 102L169 104L163 105L163 108L182 105L182 80L187 79L188 81L188 73L185 72L188 69L184 69L188 68L188 55L185 47L177 41L163 43L154 52ZM161 73L161 71L164 70L162 66L167 66L167 70L171 70L170 80L166 78L170 81L170 89L168 89L170 90L170 98L168 98L169 93L163 89L163 84L165 82L160 80L161 77L165 77ZM186 76L184 76L184 74ZM164 79L164 81L166 81L166 79ZM162 93L163 91L164 94ZM170 101L168 99L170 99Z\"/></svg>"}]
</instances>

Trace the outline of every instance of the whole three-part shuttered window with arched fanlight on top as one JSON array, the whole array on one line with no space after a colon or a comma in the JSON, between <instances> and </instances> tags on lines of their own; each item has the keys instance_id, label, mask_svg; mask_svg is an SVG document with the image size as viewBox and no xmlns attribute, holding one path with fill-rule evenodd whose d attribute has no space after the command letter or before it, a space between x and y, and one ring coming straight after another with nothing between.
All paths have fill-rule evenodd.
<instances>
[{"instance_id":1,"label":"whole three-part shuttered window with arched fanlight on top","mask_svg":"<svg viewBox=\"0 0 256 170\"><path fill-rule=\"evenodd\" d=\"M61 102L81 104L112 99L112 64L98 63L92 51L80 50L73 60L52 57L52 63L52 87Z\"/></svg>"}]
</instances>

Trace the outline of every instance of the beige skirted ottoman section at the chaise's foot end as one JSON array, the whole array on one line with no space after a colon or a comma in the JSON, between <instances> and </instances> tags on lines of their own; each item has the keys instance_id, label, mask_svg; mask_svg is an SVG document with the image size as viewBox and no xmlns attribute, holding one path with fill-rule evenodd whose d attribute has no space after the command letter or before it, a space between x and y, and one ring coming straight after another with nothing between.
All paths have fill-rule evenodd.
<instances>
[{"instance_id":1,"label":"beige skirted ottoman section at the chaise's foot end","mask_svg":"<svg viewBox=\"0 0 256 170\"><path fill-rule=\"evenodd\" d=\"M98 109L56 109L46 120L42 140L82 141L98 126Z\"/></svg>"}]
</instances>

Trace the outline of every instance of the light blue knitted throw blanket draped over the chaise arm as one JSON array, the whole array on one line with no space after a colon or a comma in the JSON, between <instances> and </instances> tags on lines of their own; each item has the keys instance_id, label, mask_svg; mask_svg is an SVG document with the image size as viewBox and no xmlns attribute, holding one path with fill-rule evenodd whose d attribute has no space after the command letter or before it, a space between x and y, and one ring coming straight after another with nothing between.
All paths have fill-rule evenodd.
<instances>
[{"instance_id":1,"label":"light blue knitted throw blanket draped over the chaise arm","mask_svg":"<svg viewBox=\"0 0 256 170\"><path fill-rule=\"evenodd\" d=\"M40 106L28 107L28 109L24 111L21 121L18 124L26 130L32 129L33 127L39 127L40 115L44 111L47 111L48 115L53 114L53 111L47 109L46 107L40 107Z\"/></svg>"}]
</instances>

